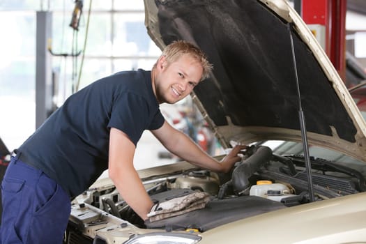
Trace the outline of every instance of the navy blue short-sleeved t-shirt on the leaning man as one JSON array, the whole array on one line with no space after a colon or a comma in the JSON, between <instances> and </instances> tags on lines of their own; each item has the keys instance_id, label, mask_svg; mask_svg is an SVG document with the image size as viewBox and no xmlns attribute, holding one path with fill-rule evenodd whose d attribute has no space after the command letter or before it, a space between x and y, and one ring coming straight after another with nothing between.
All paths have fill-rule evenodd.
<instances>
[{"instance_id":1,"label":"navy blue short-sleeved t-shirt on the leaning man","mask_svg":"<svg viewBox=\"0 0 366 244\"><path fill-rule=\"evenodd\" d=\"M151 72L120 72L70 96L20 146L20 157L75 197L107 169L110 128L122 130L136 145L144 130L163 123Z\"/></svg>"}]
</instances>

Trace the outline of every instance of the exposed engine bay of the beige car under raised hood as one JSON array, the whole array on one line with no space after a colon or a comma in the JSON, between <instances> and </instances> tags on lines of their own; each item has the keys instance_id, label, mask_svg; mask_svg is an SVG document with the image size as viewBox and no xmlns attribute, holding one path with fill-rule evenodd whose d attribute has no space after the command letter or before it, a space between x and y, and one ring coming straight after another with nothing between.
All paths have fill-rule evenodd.
<instances>
[{"instance_id":1,"label":"exposed engine bay of the beige car under raised hood","mask_svg":"<svg viewBox=\"0 0 366 244\"><path fill-rule=\"evenodd\" d=\"M365 178L357 171L314 158L312 164L315 201L365 191ZM310 202L303 158L276 155L267 146L248 148L241 162L227 174L190 169L150 176L142 181L155 202L195 191L207 192L210 201L205 208L150 222L139 218L114 185L91 188L73 200L68 229L84 235L89 232L90 236L91 229L96 231L114 222L119 228L133 224L142 229L204 232L243 218Z\"/></svg>"}]
</instances>

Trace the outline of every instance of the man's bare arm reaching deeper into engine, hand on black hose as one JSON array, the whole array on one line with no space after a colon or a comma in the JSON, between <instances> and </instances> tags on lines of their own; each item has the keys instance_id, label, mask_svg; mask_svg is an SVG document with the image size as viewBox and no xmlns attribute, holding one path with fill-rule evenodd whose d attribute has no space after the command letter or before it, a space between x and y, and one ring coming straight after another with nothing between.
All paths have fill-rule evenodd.
<instances>
[{"instance_id":1,"label":"man's bare arm reaching deeper into engine, hand on black hose","mask_svg":"<svg viewBox=\"0 0 366 244\"><path fill-rule=\"evenodd\" d=\"M235 146L220 162L203 151L183 132L173 128L167 121L158 130L151 130L153 135L174 155L193 165L217 172L228 172L234 164L241 160L238 156L246 146Z\"/></svg>"}]
</instances>

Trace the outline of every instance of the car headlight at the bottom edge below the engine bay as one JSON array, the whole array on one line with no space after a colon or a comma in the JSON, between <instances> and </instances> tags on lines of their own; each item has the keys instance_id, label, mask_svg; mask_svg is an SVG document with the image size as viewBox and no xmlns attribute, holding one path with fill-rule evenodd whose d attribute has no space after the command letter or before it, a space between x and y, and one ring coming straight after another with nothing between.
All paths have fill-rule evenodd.
<instances>
[{"instance_id":1,"label":"car headlight at the bottom edge below the engine bay","mask_svg":"<svg viewBox=\"0 0 366 244\"><path fill-rule=\"evenodd\" d=\"M194 244L200 240L201 237L196 235L168 232L137 235L123 244Z\"/></svg>"}]
</instances>

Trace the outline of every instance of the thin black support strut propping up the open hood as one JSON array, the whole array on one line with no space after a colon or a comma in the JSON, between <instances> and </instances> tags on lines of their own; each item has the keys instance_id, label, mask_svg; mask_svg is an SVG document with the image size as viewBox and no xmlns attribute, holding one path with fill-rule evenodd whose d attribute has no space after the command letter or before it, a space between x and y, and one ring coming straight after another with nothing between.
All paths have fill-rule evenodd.
<instances>
[{"instance_id":1,"label":"thin black support strut propping up the open hood","mask_svg":"<svg viewBox=\"0 0 366 244\"><path fill-rule=\"evenodd\" d=\"M309 188L309 195L310 201L314 201L314 190L312 185L312 164L310 162L310 155L309 155L309 146L307 146L307 135L306 135L306 125L305 125L305 116L303 112L303 107L301 105L301 95L300 95L300 86L298 82L298 70L296 68L296 57L295 57L295 49L293 47L293 37L291 32L291 23L287 24L287 29L289 30L290 40L291 40L291 52L292 52L292 61L293 61L293 70L295 73L296 79L296 87L298 93L298 116L300 120L300 130L301 130L301 139L303 141L303 151L305 157L305 169L307 173L307 185Z\"/></svg>"}]
</instances>

